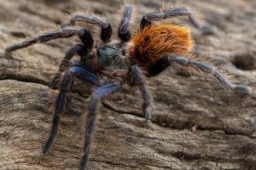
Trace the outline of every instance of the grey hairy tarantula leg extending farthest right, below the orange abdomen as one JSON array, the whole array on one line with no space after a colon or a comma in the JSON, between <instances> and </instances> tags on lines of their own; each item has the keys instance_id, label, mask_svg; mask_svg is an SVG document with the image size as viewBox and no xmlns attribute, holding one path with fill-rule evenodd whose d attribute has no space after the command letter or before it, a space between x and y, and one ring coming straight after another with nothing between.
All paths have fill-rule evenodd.
<instances>
[{"instance_id":1,"label":"grey hairy tarantula leg extending farthest right, below the orange abdomen","mask_svg":"<svg viewBox=\"0 0 256 170\"><path fill-rule=\"evenodd\" d=\"M235 85L232 84L226 77L224 77L221 73L218 72L213 65L205 64L201 61L192 61L187 57L177 56L177 55L170 55L167 57L168 61L170 61L170 65L178 64L181 66L188 66L192 67L195 71L210 74L218 79L221 85L226 87L226 89L234 89Z\"/></svg>"}]
</instances>

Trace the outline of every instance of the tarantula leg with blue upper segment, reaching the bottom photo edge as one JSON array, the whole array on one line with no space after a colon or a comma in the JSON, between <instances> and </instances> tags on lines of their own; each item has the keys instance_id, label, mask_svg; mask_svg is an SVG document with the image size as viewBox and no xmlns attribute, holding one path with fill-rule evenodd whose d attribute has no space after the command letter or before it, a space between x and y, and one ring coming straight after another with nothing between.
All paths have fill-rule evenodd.
<instances>
[{"instance_id":1,"label":"tarantula leg with blue upper segment, reaching the bottom photo edge","mask_svg":"<svg viewBox=\"0 0 256 170\"><path fill-rule=\"evenodd\" d=\"M90 97L90 105L89 105L89 114L86 117L86 139L85 139L85 144L84 144L84 155L82 156L82 160L79 166L80 170L83 170L86 168L86 164L88 163L89 160L89 155L90 155L90 146L92 142L92 136L94 133L95 129L95 124L96 124L96 117L98 115L98 104L100 100L103 97L106 97L110 93L114 93L119 89L120 85L111 83L107 85L103 85L102 87L99 87L94 91L94 93Z\"/></svg>"}]
</instances>

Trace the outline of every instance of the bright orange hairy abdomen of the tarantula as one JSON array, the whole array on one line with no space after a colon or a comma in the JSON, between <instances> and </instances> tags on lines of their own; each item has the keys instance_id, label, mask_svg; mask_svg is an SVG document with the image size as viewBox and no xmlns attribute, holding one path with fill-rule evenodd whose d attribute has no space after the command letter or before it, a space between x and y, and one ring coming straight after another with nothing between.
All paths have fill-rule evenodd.
<instances>
[{"instance_id":1,"label":"bright orange hairy abdomen of the tarantula","mask_svg":"<svg viewBox=\"0 0 256 170\"><path fill-rule=\"evenodd\" d=\"M193 47L190 30L183 26L150 26L132 39L131 57L139 65L150 67L162 57L176 54L186 57Z\"/></svg>"}]
</instances>

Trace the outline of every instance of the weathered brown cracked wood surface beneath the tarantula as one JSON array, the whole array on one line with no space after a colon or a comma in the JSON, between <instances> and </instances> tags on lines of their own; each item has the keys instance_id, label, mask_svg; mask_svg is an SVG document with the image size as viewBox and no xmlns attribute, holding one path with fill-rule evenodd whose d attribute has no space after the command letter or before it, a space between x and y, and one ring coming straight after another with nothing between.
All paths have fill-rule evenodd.
<instances>
[{"instance_id":1,"label":"weathered brown cracked wood surface beneath the tarantula","mask_svg":"<svg viewBox=\"0 0 256 170\"><path fill-rule=\"evenodd\" d=\"M134 4L135 18L141 18L148 6L162 6L162 1ZM153 120L147 122L138 89L124 86L102 105L89 169L256 169L256 2L182 4L192 6L200 21L216 30L204 35L187 18L171 20L191 27L195 53L212 59L251 92L229 93L211 78L185 77L167 69L147 80L154 97ZM115 21L121 5L118 0L0 0L0 169L78 168L89 94L77 85L54 145L43 156L58 94L49 89L50 77L78 40L56 40L12 54L4 49L42 26L65 22L67 10L93 6ZM134 23L138 26L138 19Z\"/></svg>"}]
</instances>

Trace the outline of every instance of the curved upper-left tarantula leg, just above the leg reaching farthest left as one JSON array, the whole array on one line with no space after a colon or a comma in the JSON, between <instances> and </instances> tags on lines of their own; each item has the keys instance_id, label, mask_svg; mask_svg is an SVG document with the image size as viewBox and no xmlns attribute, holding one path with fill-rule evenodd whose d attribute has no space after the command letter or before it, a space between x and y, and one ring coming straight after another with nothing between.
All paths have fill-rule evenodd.
<instances>
[{"instance_id":1,"label":"curved upper-left tarantula leg, just above the leg reaching farthest left","mask_svg":"<svg viewBox=\"0 0 256 170\"><path fill-rule=\"evenodd\" d=\"M109 22L106 22L103 18L98 15L88 15L88 14L75 14L73 18L70 19L70 22L67 22L62 25L65 26L74 26L76 22L86 22L93 24L94 26L99 26L102 29L101 39L102 42L108 42L112 35L112 26Z\"/></svg>"}]
</instances>

